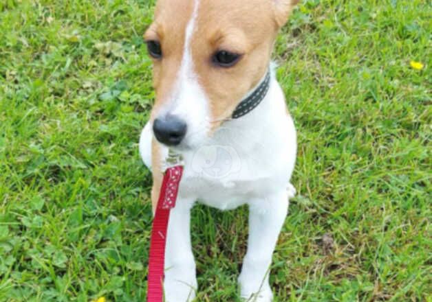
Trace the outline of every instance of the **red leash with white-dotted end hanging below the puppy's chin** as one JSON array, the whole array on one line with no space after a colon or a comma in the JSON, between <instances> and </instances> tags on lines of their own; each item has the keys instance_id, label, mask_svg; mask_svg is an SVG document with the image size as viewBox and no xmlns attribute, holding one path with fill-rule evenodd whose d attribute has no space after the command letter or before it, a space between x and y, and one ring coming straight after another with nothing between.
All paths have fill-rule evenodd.
<instances>
[{"instance_id":1,"label":"red leash with white-dotted end hanging below the puppy's chin","mask_svg":"<svg viewBox=\"0 0 432 302\"><path fill-rule=\"evenodd\" d=\"M160 188L158 207L151 230L147 302L162 302L164 298L166 231L169 213L175 207L175 200L177 200L182 174L182 165L169 167Z\"/></svg>"}]
</instances>

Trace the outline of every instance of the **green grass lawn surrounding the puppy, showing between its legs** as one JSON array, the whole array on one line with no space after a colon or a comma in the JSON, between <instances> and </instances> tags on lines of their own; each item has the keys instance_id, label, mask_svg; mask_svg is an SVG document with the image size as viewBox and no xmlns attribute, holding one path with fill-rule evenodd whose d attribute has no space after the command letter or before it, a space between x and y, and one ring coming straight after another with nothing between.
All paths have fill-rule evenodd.
<instances>
[{"instance_id":1,"label":"green grass lawn surrounding the puppy, showing between its legs","mask_svg":"<svg viewBox=\"0 0 432 302\"><path fill-rule=\"evenodd\" d=\"M0 301L144 301L152 9L0 2ZM307 0L279 36L299 195L275 301L431 301L431 13L423 0ZM237 301L246 222L246 207L193 210L197 301Z\"/></svg>"}]
</instances>

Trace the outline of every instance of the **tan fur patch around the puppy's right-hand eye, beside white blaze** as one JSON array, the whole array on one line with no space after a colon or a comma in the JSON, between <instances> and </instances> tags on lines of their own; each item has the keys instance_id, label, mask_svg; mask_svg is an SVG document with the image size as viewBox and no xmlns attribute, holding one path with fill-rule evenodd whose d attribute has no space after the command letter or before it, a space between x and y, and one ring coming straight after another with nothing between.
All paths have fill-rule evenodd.
<instances>
[{"instance_id":1,"label":"tan fur patch around the puppy's right-hand eye, beside white blaze","mask_svg":"<svg viewBox=\"0 0 432 302\"><path fill-rule=\"evenodd\" d=\"M199 83L210 103L210 130L230 118L268 69L277 34L272 1L200 0L191 48ZM235 67L217 67L211 58L218 50L232 51L242 58Z\"/></svg>"}]
</instances>

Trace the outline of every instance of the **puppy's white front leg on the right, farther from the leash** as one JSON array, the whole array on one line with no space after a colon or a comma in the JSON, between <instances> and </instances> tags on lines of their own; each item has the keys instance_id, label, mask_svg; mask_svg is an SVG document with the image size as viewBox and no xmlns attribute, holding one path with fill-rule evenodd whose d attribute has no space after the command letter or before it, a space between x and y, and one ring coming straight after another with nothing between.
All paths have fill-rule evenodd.
<instances>
[{"instance_id":1,"label":"puppy's white front leg on the right, farther from the leash","mask_svg":"<svg viewBox=\"0 0 432 302\"><path fill-rule=\"evenodd\" d=\"M248 301L272 301L268 275L287 213L288 193L285 190L264 200L250 202L248 251L239 276L241 297Z\"/></svg>"}]
</instances>

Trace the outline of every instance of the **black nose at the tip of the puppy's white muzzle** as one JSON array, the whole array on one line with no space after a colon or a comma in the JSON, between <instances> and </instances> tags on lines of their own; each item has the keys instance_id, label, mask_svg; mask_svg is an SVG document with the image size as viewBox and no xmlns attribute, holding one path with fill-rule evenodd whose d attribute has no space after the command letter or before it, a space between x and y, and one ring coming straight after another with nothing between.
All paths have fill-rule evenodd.
<instances>
[{"instance_id":1,"label":"black nose at the tip of the puppy's white muzzle","mask_svg":"<svg viewBox=\"0 0 432 302\"><path fill-rule=\"evenodd\" d=\"M177 146L186 135L186 122L175 115L166 115L153 121L156 139L166 146Z\"/></svg>"}]
</instances>

